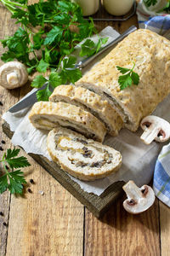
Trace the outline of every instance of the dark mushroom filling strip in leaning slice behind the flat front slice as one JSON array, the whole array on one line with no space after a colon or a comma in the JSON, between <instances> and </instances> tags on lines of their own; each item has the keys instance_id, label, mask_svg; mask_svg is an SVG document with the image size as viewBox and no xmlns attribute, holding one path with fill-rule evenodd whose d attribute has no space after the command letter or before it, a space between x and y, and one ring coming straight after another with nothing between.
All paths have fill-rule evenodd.
<instances>
[{"instance_id":1,"label":"dark mushroom filling strip in leaning slice behind the flat front slice","mask_svg":"<svg viewBox=\"0 0 170 256\"><path fill-rule=\"evenodd\" d=\"M58 121L54 121L46 117L41 117L34 121L38 125L48 127L49 129L53 129L54 127L56 127L56 125L61 125L61 126L65 126L68 129L71 129L72 131L79 131L80 133L84 134L89 138L95 138L94 133L90 133L86 128L82 127L81 125L71 123L69 120L59 119Z\"/></svg>"}]
</instances>

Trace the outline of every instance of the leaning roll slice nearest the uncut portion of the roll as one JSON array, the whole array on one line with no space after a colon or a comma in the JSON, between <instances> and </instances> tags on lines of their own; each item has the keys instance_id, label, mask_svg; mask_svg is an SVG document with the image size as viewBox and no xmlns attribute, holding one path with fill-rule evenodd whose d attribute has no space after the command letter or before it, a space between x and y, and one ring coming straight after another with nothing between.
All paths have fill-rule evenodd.
<instances>
[{"instance_id":1,"label":"leaning roll slice nearest the uncut portion of the roll","mask_svg":"<svg viewBox=\"0 0 170 256\"><path fill-rule=\"evenodd\" d=\"M49 97L49 101L67 102L83 108L103 122L112 136L117 136L118 131L122 128L122 118L111 104L85 88L74 85L59 85Z\"/></svg>"}]
</instances>

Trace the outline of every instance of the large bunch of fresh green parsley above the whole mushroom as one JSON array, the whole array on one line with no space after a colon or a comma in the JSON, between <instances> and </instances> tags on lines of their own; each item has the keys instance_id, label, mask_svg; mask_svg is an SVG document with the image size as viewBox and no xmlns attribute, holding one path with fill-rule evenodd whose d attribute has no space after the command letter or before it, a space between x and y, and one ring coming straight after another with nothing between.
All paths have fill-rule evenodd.
<instances>
[{"instance_id":1,"label":"large bunch of fresh green parsley above the whole mushroom","mask_svg":"<svg viewBox=\"0 0 170 256\"><path fill-rule=\"evenodd\" d=\"M53 87L59 84L75 83L82 77L82 72L74 68L77 59L71 56L75 46L84 38L96 33L94 21L82 17L82 9L77 3L69 0L39 0L38 3L27 5L27 0L0 0L12 13L12 18L21 26L12 37L1 40L7 51L1 59L18 61L28 67L28 72L46 73L52 71L46 89L37 92L39 101L47 101ZM105 44L107 38L99 38L94 44L90 39L82 44L80 55L93 55ZM65 59L65 56L69 55ZM34 79L31 86L40 88L44 81L43 75Z\"/></svg>"}]
</instances>

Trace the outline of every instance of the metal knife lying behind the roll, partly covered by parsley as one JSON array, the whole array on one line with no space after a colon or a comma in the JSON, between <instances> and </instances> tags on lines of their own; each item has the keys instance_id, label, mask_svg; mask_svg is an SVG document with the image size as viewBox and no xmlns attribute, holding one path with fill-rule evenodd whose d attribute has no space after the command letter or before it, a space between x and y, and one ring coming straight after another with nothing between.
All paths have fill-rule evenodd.
<instances>
[{"instance_id":1,"label":"metal knife lying behind the roll, partly covered by parsley","mask_svg":"<svg viewBox=\"0 0 170 256\"><path fill-rule=\"evenodd\" d=\"M127 37L131 32L134 32L137 30L136 26L130 26L125 32L123 32L118 38L115 38L114 40L111 41L110 44L107 44L105 47L99 50L99 52L93 56L90 56L80 62L78 62L74 68L68 68L69 70L71 69L76 69L76 68L83 68L86 67L91 61L94 61L94 59L102 54L106 49L109 49L112 45L119 43L123 38ZM41 88L38 90L43 90L47 86L48 83L45 83L42 85ZM53 91L54 89L50 86L50 90ZM20 102L16 103L12 108L9 108L8 111L10 113L15 113L20 111L21 109L31 107L35 102L37 102L37 90L33 91L29 96L26 96L23 100Z\"/></svg>"}]
</instances>

